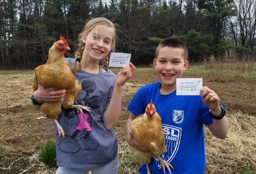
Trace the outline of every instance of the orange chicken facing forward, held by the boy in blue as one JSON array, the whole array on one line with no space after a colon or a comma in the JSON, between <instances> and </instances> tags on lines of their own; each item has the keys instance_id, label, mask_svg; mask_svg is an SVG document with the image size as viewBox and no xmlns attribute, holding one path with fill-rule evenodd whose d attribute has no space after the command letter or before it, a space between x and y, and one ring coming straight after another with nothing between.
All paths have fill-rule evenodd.
<instances>
[{"instance_id":1,"label":"orange chicken facing forward, held by the boy in blue","mask_svg":"<svg viewBox=\"0 0 256 174\"><path fill-rule=\"evenodd\" d=\"M148 150L145 152L131 147L135 158L139 162L146 164L148 174L151 173L148 164L151 162L152 158L157 158L161 161L164 173L165 167L171 173L170 167L173 168L171 164L167 163L160 157L160 155L167 150L165 147L165 137L161 117L156 112L156 108L152 100L147 105L145 113L132 121L130 133L133 135L135 140Z\"/></svg>"}]
</instances>

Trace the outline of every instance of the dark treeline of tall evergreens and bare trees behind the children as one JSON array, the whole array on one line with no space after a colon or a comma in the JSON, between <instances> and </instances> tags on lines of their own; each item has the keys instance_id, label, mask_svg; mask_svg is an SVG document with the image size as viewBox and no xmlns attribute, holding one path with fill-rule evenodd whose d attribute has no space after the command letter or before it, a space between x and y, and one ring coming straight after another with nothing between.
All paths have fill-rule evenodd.
<instances>
[{"instance_id":1,"label":"dark treeline of tall evergreens and bare trees behind the children","mask_svg":"<svg viewBox=\"0 0 256 174\"><path fill-rule=\"evenodd\" d=\"M184 40L191 62L248 55L255 51L255 11L255 0L0 0L0 68L44 64L60 36L74 57L78 34L99 16L114 22L116 51L131 53L136 65L151 63L166 37Z\"/></svg>"}]
</instances>

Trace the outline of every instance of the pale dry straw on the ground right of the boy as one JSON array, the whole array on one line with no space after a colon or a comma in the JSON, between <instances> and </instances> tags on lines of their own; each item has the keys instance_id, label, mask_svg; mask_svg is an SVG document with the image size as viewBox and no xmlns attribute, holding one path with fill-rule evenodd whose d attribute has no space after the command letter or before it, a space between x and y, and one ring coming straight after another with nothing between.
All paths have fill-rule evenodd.
<instances>
[{"instance_id":1,"label":"pale dry straw on the ground right of the boy","mask_svg":"<svg viewBox=\"0 0 256 174\"><path fill-rule=\"evenodd\" d=\"M205 128L205 173L240 173L256 169L256 117L237 112L228 114L229 133L219 140Z\"/></svg>"}]
</instances>

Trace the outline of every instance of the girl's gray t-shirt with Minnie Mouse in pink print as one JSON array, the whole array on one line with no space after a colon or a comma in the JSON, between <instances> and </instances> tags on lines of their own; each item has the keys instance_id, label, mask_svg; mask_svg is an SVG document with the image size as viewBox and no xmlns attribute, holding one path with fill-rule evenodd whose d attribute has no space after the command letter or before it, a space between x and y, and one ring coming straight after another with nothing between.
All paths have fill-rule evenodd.
<instances>
[{"instance_id":1,"label":"girl's gray t-shirt with Minnie Mouse in pink print","mask_svg":"<svg viewBox=\"0 0 256 174\"><path fill-rule=\"evenodd\" d=\"M74 58L65 58L72 67ZM103 113L113 93L116 75L111 71L99 74L74 72L82 84L76 104L91 107L90 113L78 113L76 109L62 109L58 121L65 131L59 137L55 127L57 166L69 168L97 168L109 163L117 155L115 133L103 125ZM117 106L120 107L120 106Z\"/></svg>"}]
</instances>

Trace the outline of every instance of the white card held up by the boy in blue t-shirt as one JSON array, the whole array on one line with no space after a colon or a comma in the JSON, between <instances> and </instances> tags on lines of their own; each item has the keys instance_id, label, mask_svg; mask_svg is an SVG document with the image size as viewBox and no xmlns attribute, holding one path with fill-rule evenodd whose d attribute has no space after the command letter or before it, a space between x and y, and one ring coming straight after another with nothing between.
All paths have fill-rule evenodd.
<instances>
[{"instance_id":1,"label":"white card held up by the boy in blue t-shirt","mask_svg":"<svg viewBox=\"0 0 256 174\"><path fill-rule=\"evenodd\" d=\"M176 79L177 95L201 95L200 89L203 87L202 78L180 78Z\"/></svg>"}]
</instances>

